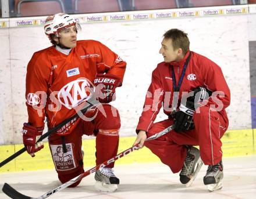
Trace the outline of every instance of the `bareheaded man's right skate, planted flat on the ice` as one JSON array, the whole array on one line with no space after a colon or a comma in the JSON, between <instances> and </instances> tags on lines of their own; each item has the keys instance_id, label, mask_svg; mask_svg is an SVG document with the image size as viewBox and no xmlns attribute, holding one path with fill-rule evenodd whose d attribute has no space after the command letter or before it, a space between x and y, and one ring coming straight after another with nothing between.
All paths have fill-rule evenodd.
<instances>
[{"instance_id":1,"label":"bareheaded man's right skate, planted flat on the ice","mask_svg":"<svg viewBox=\"0 0 256 199\"><path fill-rule=\"evenodd\" d=\"M222 189L223 165L220 161L216 165L209 165L206 175L204 176L204 184L207 185L209 191Z\"/></svg>"}]
</instances>

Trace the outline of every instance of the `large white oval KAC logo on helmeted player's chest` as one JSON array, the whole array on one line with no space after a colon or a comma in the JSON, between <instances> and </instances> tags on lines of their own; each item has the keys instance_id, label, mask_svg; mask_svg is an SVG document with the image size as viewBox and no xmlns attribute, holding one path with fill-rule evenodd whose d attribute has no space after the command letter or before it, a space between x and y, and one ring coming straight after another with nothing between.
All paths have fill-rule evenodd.
<instances>
[{"instance_id":1,"label":"large white oval KAC logo on helmeted player's chest","mask_svg":"<svg viewBox=\"0 0 256 199\"><path fill-rule=\"evenodd\" d=\"M93 95L91 82L87 79L77 79L63 86L58 93L58 100L66 108L73 108Z\"/></svg>"}]
</instances>

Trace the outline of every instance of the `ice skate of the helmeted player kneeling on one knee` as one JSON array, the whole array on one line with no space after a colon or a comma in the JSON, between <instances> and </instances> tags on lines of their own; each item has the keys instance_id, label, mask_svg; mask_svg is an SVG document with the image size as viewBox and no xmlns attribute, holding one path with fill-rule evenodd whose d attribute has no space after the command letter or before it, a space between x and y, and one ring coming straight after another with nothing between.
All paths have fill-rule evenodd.
<instances>
[{"instance_id":1,"label":"ice skate of the helmeted player kneeling on one knee","mask_svg":"<svg viewBox=\"0 0 256 199\"><path fill-rule=\"evenodd\" d=\"M95 189L104 192L113 192L118 189L119 179L111 168L100 168L95 172Z\"/></svg>"}]
</instances>

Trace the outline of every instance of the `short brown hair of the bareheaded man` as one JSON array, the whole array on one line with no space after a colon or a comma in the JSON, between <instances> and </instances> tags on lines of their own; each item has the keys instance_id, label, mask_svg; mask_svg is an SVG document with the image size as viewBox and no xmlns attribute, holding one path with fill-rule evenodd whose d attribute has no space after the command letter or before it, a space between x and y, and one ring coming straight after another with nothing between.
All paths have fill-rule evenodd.
<instances>
[{"instance_id":1,"label":"short brown hair of the bareheaded man","mask_svg":"<svg viewBox=\"0 0 256 199\"><path fill-rule=\"evenodd\" d=\"M177 28L170 29L163 34L165 39L172 39L173 49L181 48L183 55L186 55L187 50L189 50L189 37L187 33L179 30Z\"/></svg>"}]
</instances>

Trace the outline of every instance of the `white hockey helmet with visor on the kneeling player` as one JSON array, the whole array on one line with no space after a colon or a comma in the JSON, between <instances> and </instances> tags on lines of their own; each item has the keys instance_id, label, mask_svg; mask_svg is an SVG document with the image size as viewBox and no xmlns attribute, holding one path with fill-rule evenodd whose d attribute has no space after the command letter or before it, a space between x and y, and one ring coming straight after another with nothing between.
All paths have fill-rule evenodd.
<instances>
[{"instance_id":1,"label":"white hockey helmet with visor on the kneeling player","mask_svg":"<svg viewBox=\"0 0 256 199\"><path fill-rule=\"evenodd\" d=\"M62 28L72 25L76 25L79 30L81 29L80 24L77 23L72 16L69 16L66 13L57 13L47 17L45 20L44 32L48 37L51 34L55 34L57 37L60 37L59 32Z\"/></svg>"}]
</instances>

